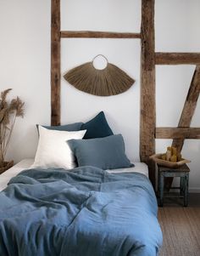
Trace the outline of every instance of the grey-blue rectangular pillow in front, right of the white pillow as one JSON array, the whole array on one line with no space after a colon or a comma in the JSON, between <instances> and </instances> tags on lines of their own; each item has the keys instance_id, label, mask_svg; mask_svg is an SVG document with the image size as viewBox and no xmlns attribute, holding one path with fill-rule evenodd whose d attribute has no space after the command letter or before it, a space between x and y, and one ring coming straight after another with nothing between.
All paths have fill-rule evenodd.
<instances>
[{"instance_id":1,"label":"grey-blue rectangular pillow in front, right of the white pillow","mask_svg":"<svg viewBox=\"0 0 200 256\"><path fill-rule=\"evenodd\" d=\"M79 166L94 166L102 169L133 167L125 156L125 143L121 134L97 139L69 139Z\"/></svg>"}]
</instances>

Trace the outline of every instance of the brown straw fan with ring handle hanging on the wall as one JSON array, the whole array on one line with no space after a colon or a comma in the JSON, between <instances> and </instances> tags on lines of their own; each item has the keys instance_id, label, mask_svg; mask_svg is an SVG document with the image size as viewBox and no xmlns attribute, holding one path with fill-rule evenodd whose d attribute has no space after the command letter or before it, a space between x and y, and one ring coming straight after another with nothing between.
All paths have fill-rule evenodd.
<instances>
[{"instance_id":1,"label":"brown straw fan with ring handle hanging on the wall","mask_svg":"<svg viewBox=\"0 0 200 256\"><path fill-rule=\"evenodd\" d=\"M108 63L105 56L103 58L107 61L107 66L103 70L96 69L93 62L98 56L103 55L98 54L92 62L86 62L68 71L64 79L82 92L97 96L122 94L131 88L135 80L116 65Z\"/></svg>"}]
</instances>

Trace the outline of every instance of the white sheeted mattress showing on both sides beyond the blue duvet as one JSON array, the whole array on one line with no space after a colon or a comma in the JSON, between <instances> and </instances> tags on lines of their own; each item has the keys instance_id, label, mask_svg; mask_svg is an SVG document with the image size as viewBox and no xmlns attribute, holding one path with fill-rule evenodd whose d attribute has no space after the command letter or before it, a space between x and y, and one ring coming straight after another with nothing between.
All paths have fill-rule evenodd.
<instances>
[{"instance_id":1,"label":"white sheeted mattress showing on both sides beyond the blue duvet","mask_svg":"<svg viewBox=\"0 0 200 256\"><path fill-rule=\"evenodd\" d=\"M1 174L0 175L0 191L3 191L7 187L8 181L12 177L16 176L21 171L30 168L33 162L34 162L34 159L32 158L24 159L18 162L17 164L15 164L14 167L9 168L8 171ZM134 162L134 164L135 164L135 167L132 167L132 168L119 168L119 169L112 169L107 171L108 173L112 173L112 174L140 173L148 177L148 168L146 163Z\"/></svg>"}]
</instances>

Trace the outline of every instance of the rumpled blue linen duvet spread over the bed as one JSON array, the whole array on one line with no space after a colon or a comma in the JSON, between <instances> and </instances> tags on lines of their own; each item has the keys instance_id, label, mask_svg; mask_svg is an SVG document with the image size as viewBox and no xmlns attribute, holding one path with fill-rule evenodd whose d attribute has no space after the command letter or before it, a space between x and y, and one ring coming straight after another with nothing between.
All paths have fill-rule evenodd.
<instances>
[{"instance_id":1,"label":"rumpled blue linen duvet spread over the bed","mask_svg":"<svg viewBox=\"0 0 200 256\"><path fill-rule=\"evenodd\" d=\"M25 170L0 193L0 255L154 256L157 211L142 174Z\"/></svg>"}]
</instances>

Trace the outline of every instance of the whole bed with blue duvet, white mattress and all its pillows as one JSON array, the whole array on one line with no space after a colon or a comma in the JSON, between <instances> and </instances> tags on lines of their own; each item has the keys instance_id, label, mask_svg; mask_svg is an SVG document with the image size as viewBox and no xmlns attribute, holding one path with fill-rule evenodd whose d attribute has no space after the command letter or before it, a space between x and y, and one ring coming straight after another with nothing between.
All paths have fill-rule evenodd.
<instances>
[{"instance_id":1,"label":"whole bed with blue duvet, white mattress and all its pillows","mask_svg":"<svg viewBox=\"0 0 200 256\"><path fill-rule=\"evenodd\" d=\"M38 132L35 159L0 177L0 255L158 255L147 165L128 159L104 113Z\"/></svg>"}]
</instances>

